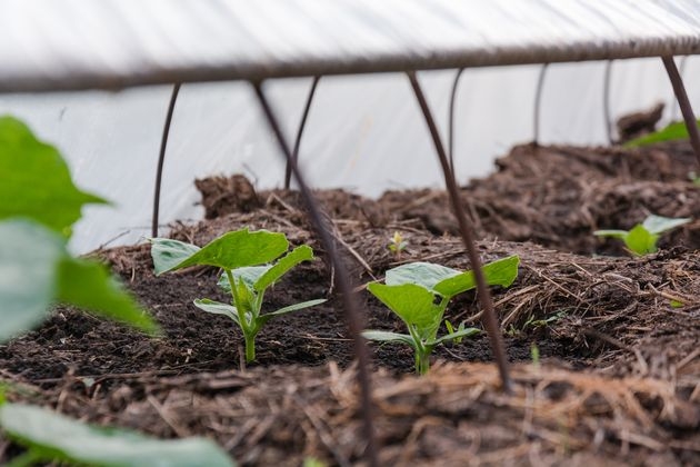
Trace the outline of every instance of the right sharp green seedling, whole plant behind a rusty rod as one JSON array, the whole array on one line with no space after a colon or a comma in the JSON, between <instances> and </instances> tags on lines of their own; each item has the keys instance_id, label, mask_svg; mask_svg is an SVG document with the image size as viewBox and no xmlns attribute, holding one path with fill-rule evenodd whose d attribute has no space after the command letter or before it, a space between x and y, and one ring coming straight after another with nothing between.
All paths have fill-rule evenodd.
<instances>
[{"instance_id":1,"label":"right sharp green seedling, whole plant behind a rusty rod","mask_svg":"<svg viewBox=\"0 0 700 467\"><path fill-rule=\"evenodd\" d=\"M509 287L518 277L518 256L510 256L483 266L487 284ZM479 332L460 326L438 337L444 311L459 294L474 289L477 282L471 270L459 271L430 262L411 262L387 271L384 284L371 282L367 289L406 324L409 334L366 330L367 339L381 342L406 344L413 348L416 371L424 375L430 368L433 348ZM449 328L448 328L449 329Z\"/></svg>"}]
</instances>

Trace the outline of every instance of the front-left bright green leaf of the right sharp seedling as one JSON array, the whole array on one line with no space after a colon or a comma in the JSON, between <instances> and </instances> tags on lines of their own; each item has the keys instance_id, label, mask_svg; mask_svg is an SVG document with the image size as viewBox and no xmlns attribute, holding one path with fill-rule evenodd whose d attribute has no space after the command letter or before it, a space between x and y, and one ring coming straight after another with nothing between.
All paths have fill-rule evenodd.
<instances>
[{"instance_id":1,"label":"front-left bright green leaf of the right sharp seedling","mask_svg":"<svg viewBox=\"0 0 700 467\"><path fill-rule=\"evenodd\" d=\"M433 302L436 296L430 290L416 284L386 286L372 282L367 288L409 327L414 326L421 337L434 337L442 320L442 309Z\"/></svg>"}]
</instances>

